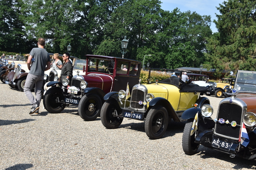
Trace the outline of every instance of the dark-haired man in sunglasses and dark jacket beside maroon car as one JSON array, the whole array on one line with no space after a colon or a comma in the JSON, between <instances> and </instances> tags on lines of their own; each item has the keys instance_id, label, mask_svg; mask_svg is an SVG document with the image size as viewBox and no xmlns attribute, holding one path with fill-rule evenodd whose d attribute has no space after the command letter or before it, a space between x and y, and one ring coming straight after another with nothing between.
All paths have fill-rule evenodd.
<instances>
[{"instance_id":1,"label":"dark-haired man in sunglasses and dark jacket beside maroon car","mask_svg":"<svg viewBox=\"0 0 256 170\"><path fill-rule=\"evenodd\" d=\"M72 75L73 65L69 57L70 57L69 53L64 53L62 56L62 59L65 63L62 65L62 68L61 68L60 82L63 80L63 78L68 78L71 82L71 78L73 77Z\"/></svg>"}]
</instances>

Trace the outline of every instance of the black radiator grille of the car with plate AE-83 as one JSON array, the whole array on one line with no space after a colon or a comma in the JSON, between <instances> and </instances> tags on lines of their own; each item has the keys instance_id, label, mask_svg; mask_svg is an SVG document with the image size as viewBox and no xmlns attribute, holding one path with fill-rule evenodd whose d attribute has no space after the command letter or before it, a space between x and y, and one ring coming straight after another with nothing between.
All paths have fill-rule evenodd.
<instances>
[{"instance_id":1,"label":"black radiator grille of the car with plate AE-83","mask_svg":"<svg viewBox=\"0 0 256 170\"><path fill-rule=\"evenodd\" d=\"M242 107L235 104L221 104L219 106L219 112L217 116L217 120L224 119L231 123L232 121L236 121L237 125L241 125L241 117L242 117ZM232 127L230 123L220 123L216 122L215 133L220 135L224 135L226 137L239 138L240 135L240 126Z\"/></svg>"}]
</instances>

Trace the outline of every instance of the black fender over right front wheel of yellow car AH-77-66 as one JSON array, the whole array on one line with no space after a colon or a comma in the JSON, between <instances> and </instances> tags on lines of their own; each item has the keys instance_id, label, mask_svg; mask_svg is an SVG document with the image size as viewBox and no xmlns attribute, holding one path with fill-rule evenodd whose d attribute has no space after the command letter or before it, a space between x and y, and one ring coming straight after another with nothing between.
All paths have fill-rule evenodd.
<instances>
[{"instance_id":1,"label":"black fender over right front wheel of yellow car AH-77-66","mask_svg":"<svg viewBox=\"0 0 256 170\"><path fill-rule=\"evenodd\" d=\"M181 119L178 117L176 111L174 110L174 108L172 107L172 105L170 104L170 102L168 100L166 100L165 98L154 98L149 102L149 107L148 107L148 111L156 105L161 105L163 107L166 108L166 110L168 111L168 115L169 115L169 119L172 118L174 119L174 121L178 121L180 122Z\"/></svg>"}]
</instances>

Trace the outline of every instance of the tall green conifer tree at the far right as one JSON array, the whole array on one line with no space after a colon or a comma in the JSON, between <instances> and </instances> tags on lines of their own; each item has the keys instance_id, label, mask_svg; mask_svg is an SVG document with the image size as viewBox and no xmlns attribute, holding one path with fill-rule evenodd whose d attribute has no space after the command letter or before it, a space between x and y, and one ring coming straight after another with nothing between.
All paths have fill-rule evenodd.
<instances>
[{"instance_id":1,"label":"tall green conifer tree at the far right","mask_svg":"<svg viewBox=\"0 0 256 170\"><path fill-rule=\"evenodd\" d=\"M256 1L228 0L217 8L219 31L206 45L213 68L256 70Z\"/></svg>"}]
</instances>

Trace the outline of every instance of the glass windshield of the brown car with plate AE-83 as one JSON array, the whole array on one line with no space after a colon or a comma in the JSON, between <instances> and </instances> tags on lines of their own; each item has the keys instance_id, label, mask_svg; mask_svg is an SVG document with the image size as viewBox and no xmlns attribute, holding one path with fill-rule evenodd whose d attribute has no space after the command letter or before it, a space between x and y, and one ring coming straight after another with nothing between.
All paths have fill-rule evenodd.
<instances>
[{"instance_id":1,"label":"glass windshield of the brown car with plate AE-83","mask_svg":"<svg viewBox=\"0 0 256 170\"><path fill-rule=\"evenodd\" d=\"M237 92L256 92L256 72L238 70L235 89Z\"/></svg>"}]
</instances>

